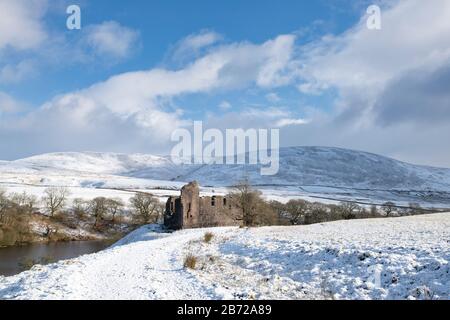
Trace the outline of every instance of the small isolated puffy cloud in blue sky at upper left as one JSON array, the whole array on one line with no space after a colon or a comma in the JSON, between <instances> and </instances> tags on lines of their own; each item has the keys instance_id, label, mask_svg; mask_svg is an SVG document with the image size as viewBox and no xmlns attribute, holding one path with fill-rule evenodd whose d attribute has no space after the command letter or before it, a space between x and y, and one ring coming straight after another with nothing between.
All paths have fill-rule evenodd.
<instances>
[{"instance_id":1,"label":"small isolated puffy cloud in blue sky at upper left","mask_svg":"<svg viewBox=\"0 0 450 320\"><path fill-rule=\"evenodd\" d=\"M139 33L115 21L86 27L84 41L99 56L125 58L135 48Z\"/></svg>"}]
</instances>

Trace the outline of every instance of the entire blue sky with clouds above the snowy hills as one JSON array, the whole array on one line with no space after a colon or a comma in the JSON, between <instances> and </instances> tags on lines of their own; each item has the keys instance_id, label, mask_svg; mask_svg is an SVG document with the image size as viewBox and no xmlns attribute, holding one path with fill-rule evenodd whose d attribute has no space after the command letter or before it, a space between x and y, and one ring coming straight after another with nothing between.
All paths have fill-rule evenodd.
<instances>
[{"instance_id":1,"label":"entire blue sky with clouds above the snowy hills","mask_svg":"<svg viewBox=\"0 0 450 320\"><path fill-rule=\"evenodd\" d=\"M449 89L447 0L0 0L3 160L169 154L203 121L450 167Z\"/></svg>"}]
</instances>

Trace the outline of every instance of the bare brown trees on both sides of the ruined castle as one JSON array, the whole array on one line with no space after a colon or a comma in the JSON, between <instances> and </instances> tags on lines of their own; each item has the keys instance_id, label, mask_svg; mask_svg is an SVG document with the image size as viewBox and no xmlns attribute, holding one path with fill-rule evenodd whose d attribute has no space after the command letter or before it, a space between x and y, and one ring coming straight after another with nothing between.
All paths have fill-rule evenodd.
<instances>
[{"instance_id":1,"label":"bare brown trees on both sides of the ruined castle","mask_svg":"<svg viewBox=\"0 0 450 320\"><path fill-rule=\"evenodd\" d=\"M51 187L40 199L22 193L7 194L0 189L0 246L2 243L27 241L31 234L30 221L33 215L46 217L50 222L61 223L76 229L80 224L103 232L120 228L121 225L158 223L164 215L164 205L151 194L136 192L128 204L120 198L96 197L69 201L70 192L63 187ZM240 212L244 226L301 225L335 220L380 218L423 214L429 212L417 203L409 207L397 207L393 202L363 207L353 202L324 204L305 200L290 200L287 203L266 201L262 193L254 189L248 180L231 188L226 198L229 205ZM39 204L43 207L39 208ZM41 210L43 209L43 212ZM46 236L57 234L47 225ZM5 240L6 239L6 240Z\"/></svg>"}]
</instances>

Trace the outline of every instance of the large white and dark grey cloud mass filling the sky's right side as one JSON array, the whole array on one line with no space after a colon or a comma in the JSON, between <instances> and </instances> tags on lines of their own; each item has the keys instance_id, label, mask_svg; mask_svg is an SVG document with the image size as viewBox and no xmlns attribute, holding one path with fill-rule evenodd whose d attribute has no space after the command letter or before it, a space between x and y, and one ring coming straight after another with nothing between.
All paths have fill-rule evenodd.
<instances>
[{"instance_id":1,"label":"large white and dark grey cloud mass filling the sky's right side","mask_svg":"<svg viewBox=\"0 0 450 320\"><path fill-rule=\"evenodd\" d=\"M449 17L446 0L389 2L381 30L367 29L364 17L341 35L299 47L299 90L329 90L337 98L326 117L287 127L285 142L448 167L450 153L439 136L450 132Z\"/></svg>"}]
</instances>

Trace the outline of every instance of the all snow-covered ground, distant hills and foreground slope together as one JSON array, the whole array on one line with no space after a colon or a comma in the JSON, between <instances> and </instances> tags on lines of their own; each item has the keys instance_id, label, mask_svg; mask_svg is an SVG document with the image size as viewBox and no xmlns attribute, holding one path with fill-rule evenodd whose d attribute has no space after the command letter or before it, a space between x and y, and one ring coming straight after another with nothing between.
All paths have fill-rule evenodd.
<instances>
[{"instance_id":1,"label":"all snow-covered ground, distant hills and foreground slope together","mask_svg":"<svg viewBox=\"0 0 450 320\"><path fill-rule=\"evenodd\" d=\"M450 208L450 169L416 166L338 148L280 151L280 172L258 166L177 166L168 157L53 153L0 161L0 188L70 198L135 191L161 200L198 180L223 195L244 175L269 200L420 203ZM33 226L36 227L36 226ZM214 233L211 243L202 241ZM449 299L450 214L298 227L214 228L164 233L145 226L113 247L0 277L0 299ZM198 258L196 270L183 259Z\"/></svg>"}]
</instances>

